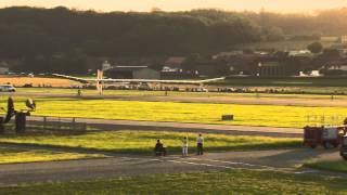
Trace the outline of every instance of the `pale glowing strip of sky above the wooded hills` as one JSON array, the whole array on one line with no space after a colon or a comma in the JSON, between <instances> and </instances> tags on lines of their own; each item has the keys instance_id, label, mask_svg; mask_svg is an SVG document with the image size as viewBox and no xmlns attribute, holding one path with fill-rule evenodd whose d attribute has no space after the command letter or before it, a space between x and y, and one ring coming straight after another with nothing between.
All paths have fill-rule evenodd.
<instances>
[{"instance_id":1,"label":"pale glowing strip of sky above the wooded hills","mask_svg":"<svg viewBox=\"0 0 347 195\"><path fill-rule=\"evenodd\" d=\"M310 12L347 6L347 0L0 0L0 6L29 5L53 8L64 5L95 11L183 11L215 8L228 11Z\"/></svg>"}]
</instances>

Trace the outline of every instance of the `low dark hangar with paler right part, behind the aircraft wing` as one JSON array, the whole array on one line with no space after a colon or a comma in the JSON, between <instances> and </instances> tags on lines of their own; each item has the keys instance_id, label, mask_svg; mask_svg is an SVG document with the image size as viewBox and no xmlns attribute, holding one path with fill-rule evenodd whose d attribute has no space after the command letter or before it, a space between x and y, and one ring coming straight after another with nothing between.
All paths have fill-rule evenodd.
<instances>
[{"instance_id":1,"label":"low dark hangar with paler right part, behind the aircraft wing","mask_svg":"<svg viewBox=\"0 0 347 195\"><path fill-rule=\"evenodd\" d=\"M113 79L160 79L160 73L147 66L114 66L104 75Z\"/></svg>"}]
</instances>

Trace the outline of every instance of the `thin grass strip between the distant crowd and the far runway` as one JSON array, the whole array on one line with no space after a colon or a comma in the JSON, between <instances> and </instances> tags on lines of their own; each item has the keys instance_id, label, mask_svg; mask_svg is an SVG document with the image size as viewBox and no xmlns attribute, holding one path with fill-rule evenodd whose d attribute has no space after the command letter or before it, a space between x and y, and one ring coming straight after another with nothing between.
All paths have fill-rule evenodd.
<instances>
[{"instance_id":1,"label":"thin grass strip between the distant crowd and the far runway","mask_svg":"<svg viewBox=\"0 0 347 195\"><path fill-rule=\"evenodd\" d=\"M265 91L268 87L249 87L252 91ZM331 95L334 93L346 93L347 88L338 87L312 87L312 88L299 88L299 87L277 87L270 88L273 90L284 91L283 93L220 93L220 92L177 92L169 91L169 96L226 96L226 98L254 98L254 99L320 99L331 100ZM303 94L303 91L309 94ZM60 89L60 88L17 88L17 92L25 93L51 93L51 94L67 94L76 95L76 89ZM98 91L92 89L81 90L83 95L97 95ZM312 94L310 94L312 93ZM120 96L164 96L165 91L137 91L137 90L104 90L104 95L120 95ZM15 93L14 93L15 95ZM345 100L347 95L334 95L334 99Z\"/></svg>"}]
</instances>

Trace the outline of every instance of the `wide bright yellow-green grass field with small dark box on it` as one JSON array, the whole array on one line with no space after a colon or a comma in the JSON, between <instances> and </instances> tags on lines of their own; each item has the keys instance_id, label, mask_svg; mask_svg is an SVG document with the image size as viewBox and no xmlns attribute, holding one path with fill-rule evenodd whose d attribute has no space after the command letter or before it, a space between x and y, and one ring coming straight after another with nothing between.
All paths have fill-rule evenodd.
<instances>
[{"instance_id":1,"label":"wide bright yellow-green grass field with small dark box on it","mask_svg":"<svg viewBox=\"0 0 347 195\"><path fill-rule=\"evenodd\" d=\"M24 98L18 98L23 101ZM4 106L5 99L2 99ZM24 103L16 104L17 109ZM83 117L127 119L147 121L177 121L196 123L222 123L265 127L303 128L308 115L325 116L326 123L332 117L345 117L345 107L300 107L277 105L239 105L210 103L140 102L114 100L37 99L38 116ZM233 114L233 121L221 121L221 115ZM317 118L321 121L321 118ZM340 123L340 121L335 121Z\"/></svg>"}]
</instances>

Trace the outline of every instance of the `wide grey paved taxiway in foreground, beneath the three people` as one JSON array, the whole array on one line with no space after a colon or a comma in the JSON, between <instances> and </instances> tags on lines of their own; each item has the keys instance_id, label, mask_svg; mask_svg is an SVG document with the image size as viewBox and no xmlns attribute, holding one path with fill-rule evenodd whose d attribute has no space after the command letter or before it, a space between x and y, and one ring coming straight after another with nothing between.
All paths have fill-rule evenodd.
<instances>
[{"instance_id":1,"label":"wide grey paved taxiway in foreground, beneath the three people","mask_svg":"<svg viewBox=\"0 0 347 195\"><path fill-rule=\"evenodd\" d=\"M110 156L103 159L0 165L0 186L48 181L228 169L260 169L319 176L322 172L298 169L297 166L309 159L339 158L336 151L324 150L206 153L204 156L191 155L184 158L180 156L118 156L114 154L110 154ZM346 177L345 174L330 174Z\"/></svg>"}]
</instances>

